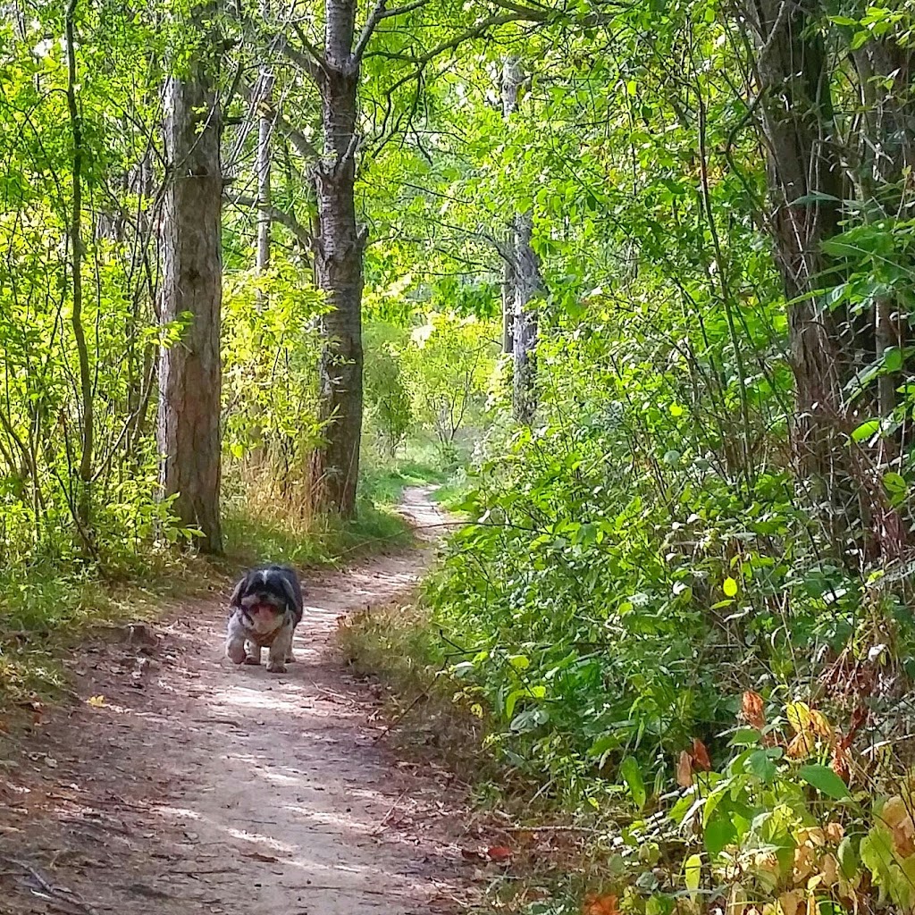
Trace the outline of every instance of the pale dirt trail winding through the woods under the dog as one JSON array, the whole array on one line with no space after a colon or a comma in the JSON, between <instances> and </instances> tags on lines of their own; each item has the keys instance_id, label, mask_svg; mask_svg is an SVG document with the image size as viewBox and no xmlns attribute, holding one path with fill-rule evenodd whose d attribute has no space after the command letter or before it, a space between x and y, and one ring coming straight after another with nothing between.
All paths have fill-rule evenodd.
<instances>
[{"instance_id":1,"label":"pale dirt trail winding through the woods under the dog","mask_svg":"<svg viewBox=\"0 0 915 915\"><path fill-rule=\"evenodd\" d=\"M328 650L341 614L425 570L443 521L428 495L404 495L420 548L306 579L285 675L223 659L217 598L174 608L148 644L137 630L74 656L83 701L0 746L0 912L449 908L443 777L390 758L377 695Z\"/></svg>"}]
</instances>

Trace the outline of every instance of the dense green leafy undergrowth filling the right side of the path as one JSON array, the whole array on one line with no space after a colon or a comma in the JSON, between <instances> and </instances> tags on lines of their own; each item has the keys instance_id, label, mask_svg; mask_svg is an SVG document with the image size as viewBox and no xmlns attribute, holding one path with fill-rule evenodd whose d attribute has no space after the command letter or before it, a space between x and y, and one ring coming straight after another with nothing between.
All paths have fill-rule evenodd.
<instances>
[{"instance_id":1,"label":"dense green leafy undergrowth filling the right side of the path","mask_svg":"<svg viewBox=\"0 0 915 915\"><path fill-rule=\"evenodd\" d=\"M548 345L541 421L493 417L414 604L340 631L503 830L485 910L910 910L908 565L836 554L775 451L732 476L629 337Z\"/></svg>"}]
</instances>

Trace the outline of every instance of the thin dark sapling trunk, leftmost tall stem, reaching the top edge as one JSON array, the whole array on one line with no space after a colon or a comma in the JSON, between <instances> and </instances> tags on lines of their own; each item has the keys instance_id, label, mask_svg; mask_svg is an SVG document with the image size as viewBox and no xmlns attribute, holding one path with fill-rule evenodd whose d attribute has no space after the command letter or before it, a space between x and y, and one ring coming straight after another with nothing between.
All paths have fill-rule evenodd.
<instances>
[{"instance_id":1,"label":"thin dark sapling trunk, leftmost tall stem, reaching the top edge","mask_svg":"<svg viewBox=\"0 0 915 915\"><path fill-rule=\"evenodd\" d=\"M82 327L82 121L76 98L76 6L78 0L70 0L65 21L67 42L67 108L70 113L70 133L73 141L72 159L72 212L70 214L70 266L73 273L73 302L70 316L73 339L76 341L77 359L80 364L81 395L81 457L80 491L77 495L77 522L81 536L90 536L92 510L92 450L95 432L92 404L92 371L89 365L89 348L86 332Z\"/></svg>"}]
</instances>

